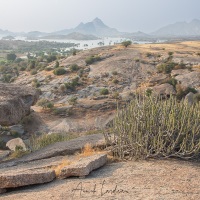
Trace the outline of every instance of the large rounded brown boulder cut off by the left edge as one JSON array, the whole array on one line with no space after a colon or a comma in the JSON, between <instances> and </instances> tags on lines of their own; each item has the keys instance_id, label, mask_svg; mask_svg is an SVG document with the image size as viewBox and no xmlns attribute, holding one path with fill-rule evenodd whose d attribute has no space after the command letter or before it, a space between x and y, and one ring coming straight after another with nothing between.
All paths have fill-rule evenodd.
<instances>
[{"instance_id":1,"label":"large rounded brown boulder cut off by the left edge","mask_svg":"<svg viewBox=\"0 0 200 200\"><path fill-rule=\"evenodd\" d=\"M0 83L0 125L10 126L30 113L38 92L31 87Z\"/></svg>"}]
</instances>

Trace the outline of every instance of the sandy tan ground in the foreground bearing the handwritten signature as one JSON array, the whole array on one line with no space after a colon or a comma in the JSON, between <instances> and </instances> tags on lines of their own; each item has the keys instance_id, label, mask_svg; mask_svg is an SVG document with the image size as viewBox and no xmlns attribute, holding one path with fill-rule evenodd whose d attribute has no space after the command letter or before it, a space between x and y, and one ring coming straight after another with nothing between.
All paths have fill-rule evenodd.
<instances>
[{"instance_id":1,"label":"sandy tan ground in the foreground bearing the handwritten signature","mask_svg":"<svg viewBox=\"0 0 200 200\"><path fill-rule=\"evenodd\" d=\"M108 164L86 178L56 180L8 191L2 200L197 200L200 163L180 160Z\"/></svg>"}]
</instances>

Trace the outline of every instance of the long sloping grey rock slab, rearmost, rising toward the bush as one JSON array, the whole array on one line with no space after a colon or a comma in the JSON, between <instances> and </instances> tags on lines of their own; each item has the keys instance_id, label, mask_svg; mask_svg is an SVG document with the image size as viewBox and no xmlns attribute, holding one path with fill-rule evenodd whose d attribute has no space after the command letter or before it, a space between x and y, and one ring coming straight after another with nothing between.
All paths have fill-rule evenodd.
<instances>
[{"instance_id":1,"label":"long sloping grey rock slab, rearmost, rising toward the bush","mask_svg":"<svg viewBox=\"0 0 200 200\"><path fill-rule=\"evenodd\" d=\"M90 144L92 147L98 147L101 145L105 145L105 139L103 134L94 134L82 136L73 140L65 141L65 142L57 142L55 144L49 145L43 149L35 151L34 153L25 155L20 159L16 159L14 161L6 162L0 164L0 169L5 168L6 166L14 166L23 162L30 162L34 160L41 160L46 158L52 158L55 156L65 156L72 155L77 151L80 151L84 148L86 144Z\"/></svg>"}]
</instances>

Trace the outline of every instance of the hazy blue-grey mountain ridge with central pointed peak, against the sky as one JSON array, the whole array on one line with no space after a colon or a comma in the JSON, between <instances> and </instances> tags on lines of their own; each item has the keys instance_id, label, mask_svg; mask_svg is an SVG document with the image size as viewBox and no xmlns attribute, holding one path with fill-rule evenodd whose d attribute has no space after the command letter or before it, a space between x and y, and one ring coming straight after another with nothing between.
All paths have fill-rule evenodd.
<instances>
[{"instance_id":1,"label":"hazy blue-grey mountain ridge with central pointed peak, against the sky","mask_svg":"<svg viewBox=\"0 0 200 200\"><path fill-rule=\"evenodd\" d=\"M55 31L51 33L40 32L40 31L30 31L30 32L20 32L14 33L9 30L0 29L0 35L3 36L26 36L26 37L44 37L50 35L68 35L72 33L80 33L85 35L93 35L95 37L179 37L179 36L200 36L200 20L193 19L190 22L175 22L161 27L160 29L151 32L150 34L137 31L134 33L120 32L115 28L110 28L105 25L104 22L96 17L90 22L80 22L75 28L63 29L60 31Z\"/></svg>"}]
</instances>

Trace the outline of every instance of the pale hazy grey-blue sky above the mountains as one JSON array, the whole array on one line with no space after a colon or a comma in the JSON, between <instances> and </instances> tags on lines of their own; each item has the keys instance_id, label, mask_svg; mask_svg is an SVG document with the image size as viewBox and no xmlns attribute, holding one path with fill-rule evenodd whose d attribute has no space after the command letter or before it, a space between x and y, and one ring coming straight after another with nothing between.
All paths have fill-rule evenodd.
<instances>
[{"instance_id":1,"label":"pale hazy grey-blue sky above the mountains","mask_svg":"<svg viewBox=\"0 0 200 200\"><path fill-rule=\"evenodd\" d=\"M200 0L0 0L0 29L56 31L102 21L120 31L151 32L200 19Z\"/></svg>"}]
</instances>

